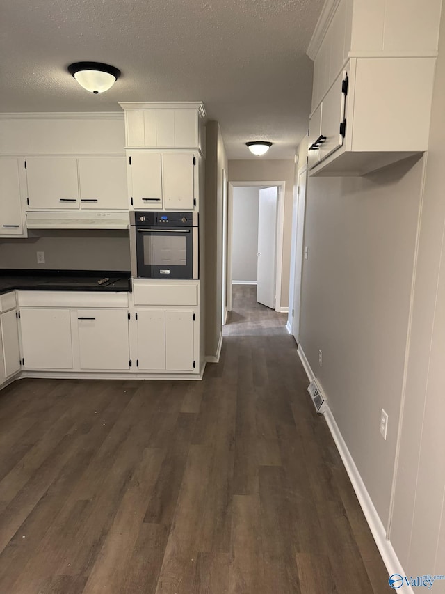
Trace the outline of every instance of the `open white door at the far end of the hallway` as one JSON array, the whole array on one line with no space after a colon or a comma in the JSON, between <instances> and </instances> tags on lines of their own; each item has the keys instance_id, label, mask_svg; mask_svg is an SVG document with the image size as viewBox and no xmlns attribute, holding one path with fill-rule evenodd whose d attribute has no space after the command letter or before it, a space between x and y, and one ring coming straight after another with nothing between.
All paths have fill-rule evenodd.
<instances>
[{"instance_id":1,"label":"open white door at the far end of the hallway","mask_svg":"<svg viewBox=\"0 0 445 594\"><path fill-rule=\"evenodd\" d=\"M275 309L277 186L260 189L258 214L257 302Z\"/></svg>"}]
</instances>

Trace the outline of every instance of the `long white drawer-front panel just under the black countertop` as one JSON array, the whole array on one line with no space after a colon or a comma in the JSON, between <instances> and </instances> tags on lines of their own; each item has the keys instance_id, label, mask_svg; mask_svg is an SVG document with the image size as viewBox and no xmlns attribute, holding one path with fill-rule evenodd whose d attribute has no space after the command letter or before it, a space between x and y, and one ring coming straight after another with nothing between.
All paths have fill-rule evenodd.
<instances>
[{"instance_id":1,"label":"long white drawer-front panel just under the black countertop","mask_svg":"<svg viewBox=\"0 0 445 594\"><path fill-rule=\"evenodd\" d=\"M22 307L128 307L127 292L19 291Z\"/></svg>"}]
</instances>

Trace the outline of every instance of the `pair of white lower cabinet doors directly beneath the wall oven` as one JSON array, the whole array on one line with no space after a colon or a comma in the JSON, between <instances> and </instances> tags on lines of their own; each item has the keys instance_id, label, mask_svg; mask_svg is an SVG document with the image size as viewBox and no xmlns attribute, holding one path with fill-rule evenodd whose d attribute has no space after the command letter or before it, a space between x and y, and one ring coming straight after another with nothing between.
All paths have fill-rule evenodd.
<instances>
[{"instance_id":1,"label":"pair of white lower cabinet doors directly beneath the wall oven","mask_svg":"<svg viewBox=\"0 0 445 594\"><path fill-rule=\"evenodd\" d=\"M137 311L137 366L140 371L193 371L192 310Z\"/></svg>"}]
</instances>

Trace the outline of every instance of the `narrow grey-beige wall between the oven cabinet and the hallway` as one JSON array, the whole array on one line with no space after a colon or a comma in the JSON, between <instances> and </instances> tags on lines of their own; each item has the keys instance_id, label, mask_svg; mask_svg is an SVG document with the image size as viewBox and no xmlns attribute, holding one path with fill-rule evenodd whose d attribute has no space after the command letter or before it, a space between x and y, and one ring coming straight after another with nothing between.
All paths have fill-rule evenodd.
<instances>
[{"instance_id":1,"label":"narrow grey-beige wall between the oven cabinet and the hallway","mask_svg":"<svg viewBox=\"0 0 445 594\"><path fill-rule=\"evenodd\" d=\"M218 122L206 125L205 180L205 320L207 357L215 357L222 333L223 171L227 157Z\"/></svg>"}]
</instances>

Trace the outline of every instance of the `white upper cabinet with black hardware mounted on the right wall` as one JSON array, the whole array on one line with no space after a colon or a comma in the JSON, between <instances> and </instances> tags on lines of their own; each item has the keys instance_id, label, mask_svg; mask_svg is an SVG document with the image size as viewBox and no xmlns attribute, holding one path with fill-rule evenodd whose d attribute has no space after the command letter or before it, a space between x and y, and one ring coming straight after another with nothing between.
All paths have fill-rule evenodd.
<instances>
[{"instance_id":1,"label":"white upper cabinet with black hardware mounted on the right wall","mask_svg":"<svg viewBox=\"0 0 445 594\"><path fill-rule=\"evenodd\" d=\"M309 175L364 175L427 150L440 4L331 3L308 49Z\"/></svg>"}]
</instances>

